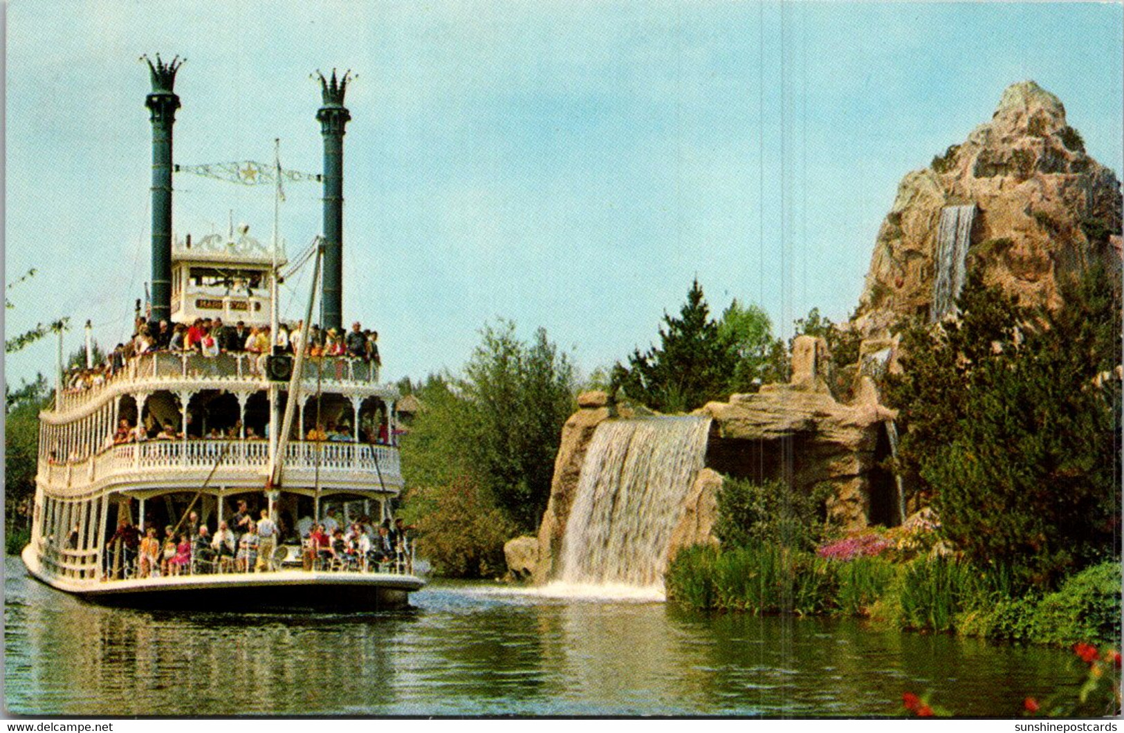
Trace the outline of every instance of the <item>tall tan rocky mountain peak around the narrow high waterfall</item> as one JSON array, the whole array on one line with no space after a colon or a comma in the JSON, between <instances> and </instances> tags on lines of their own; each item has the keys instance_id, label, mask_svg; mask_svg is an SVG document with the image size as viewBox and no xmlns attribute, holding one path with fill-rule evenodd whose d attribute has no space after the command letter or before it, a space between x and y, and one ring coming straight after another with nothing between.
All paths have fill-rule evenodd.
<instances>
[{"instance_id":1,"label":"tall tan rocky mountain peak around the narrow high waterfall","mask_svg":"<svg viewBox=\"0 0 1124 733\"><path fill-rule=\"evenodd\" d=\"M1120 181L1086 154L1057 97L1019 82L990 123L903 179L860 300L863 335L885 335L896 315L927 315L941 210L969 203L968 266L1022 305L1060 307L1059 281L1090 262L1120 272Z\"/></svg>"}]
</instances>

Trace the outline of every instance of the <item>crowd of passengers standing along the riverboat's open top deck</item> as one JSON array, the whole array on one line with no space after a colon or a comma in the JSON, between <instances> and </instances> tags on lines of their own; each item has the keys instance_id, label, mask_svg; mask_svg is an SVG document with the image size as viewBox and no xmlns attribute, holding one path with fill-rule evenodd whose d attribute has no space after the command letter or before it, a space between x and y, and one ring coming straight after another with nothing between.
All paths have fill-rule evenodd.
<instances>
[{"instance_id":1,"label":"crowd of passengers standing along the riverboat's open top deck","mask_svg":"<svg viewBox=\"0 0 1124 733\"><path fill-rule=\"evenodd\" d=\"M279 324L277 337L271 337L269 326L246 326L239 320L225 325L221 318L197 318L190 326L170 324L167 320L144 320L138 318L133 337L117 344L106 361L93 369L71 368L63 390L65 393L82 392L100 387L114 374L125 369L134 356L154 352L197 353L202 356L218 356L225 353L257 354L250 360L253 373L262 373L265 356L270 353L296 354L300 351L298 335L303 322ZM361 359L379 366L379 332L364 329L355 322L351 331L341 334L335 328L321 329L314 325L308 331L309 356L346 356Z\"/></svg>"}]
</instances>

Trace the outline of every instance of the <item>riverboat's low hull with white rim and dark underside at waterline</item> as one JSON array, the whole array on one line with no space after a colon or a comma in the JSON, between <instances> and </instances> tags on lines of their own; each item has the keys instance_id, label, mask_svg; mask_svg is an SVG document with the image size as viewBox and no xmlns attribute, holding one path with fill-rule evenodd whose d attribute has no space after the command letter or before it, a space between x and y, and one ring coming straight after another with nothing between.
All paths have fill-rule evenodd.
<instances>
[{"instance_id":1,"label":"riverboat's low hull with white rim and dark underside at waterline","mask_svg":"<svg viewBox=\"0 0 1124 733\"><path fill-rule=\"evenodd\" d=\"M375 610L407 605L425 581L411 574L280 570L129 580L64 578L46 571L33 545L24 564L37 580L110 606L216 612L321 608Z\"/></svg>"}]
</instances>

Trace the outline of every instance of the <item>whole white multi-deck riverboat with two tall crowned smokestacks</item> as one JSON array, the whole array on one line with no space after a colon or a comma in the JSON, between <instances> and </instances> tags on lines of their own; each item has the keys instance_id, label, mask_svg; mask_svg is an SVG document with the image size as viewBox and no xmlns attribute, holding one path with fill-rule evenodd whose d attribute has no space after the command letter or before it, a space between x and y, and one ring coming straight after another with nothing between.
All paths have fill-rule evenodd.
<instances>
[{"instance_id":1,"label":"whole white multi-deck riverboat with two tall crowned smokestacks","mask_svg":"<svg viewBox=\"0 0 1124 733\"><path fill-rule=\"evenodd\" d=\"M60 373L54 405L40 414L24 562L58 590L112 605L402 605L424 581L407 533L391 523L402 489L400 395L380 382L370 334L345 328L342 317L350 76L318 75L324 171L303 175L323 182L324 230L294 257L315 270L311 293L305 318L279 345L278 282L294 265L280 252L277 224L272 246L246 227L173 237L172 178L183 170L172 160L180 62L145 61L151 314L138 308L137 337L105 366L88 363L84 380ZM270 173L280 197L280 164L235 171ZM318 289L319 337L309 325Z\"/></svg>"}]
</instances>

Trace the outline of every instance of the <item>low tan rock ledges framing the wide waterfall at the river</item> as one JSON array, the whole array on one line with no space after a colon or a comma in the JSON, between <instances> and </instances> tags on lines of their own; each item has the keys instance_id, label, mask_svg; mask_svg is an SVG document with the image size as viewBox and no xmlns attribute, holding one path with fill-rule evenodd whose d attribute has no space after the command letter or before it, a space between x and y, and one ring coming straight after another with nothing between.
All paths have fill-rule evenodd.
<instances>
[{"instance_id":1,"label":"low tan rock ledges framing the wide waterfall at the river","mask_svg":"<svg viewBox=\"0 0 1124 733\"><path fill-rule=\"evenodd\" d=\"M722 473L759 481L782 479L797 491L831 482L835 491L828 510L842 524L861 527L871 521L892 521L879 515L890 512L894 500L892 477L879 463L888 454L883 423L896 415L874 397L854 405L836 401L824 380L828 366L824 341L798 336L788 384L765 384L755 395L734 395L728 402L709 402L695 411L711 418L707 468L698 472L682 501L668 561L682 548L717 541L711 530ZM867 388L862 393L874 395L870 378L863 377L862 384ZM578 405L562 428L551 497L538 530L536 582L559 573L556 562L582 464L597 426L610 417L604 392L586 392Z\"/></svg>"}]
</instances>

